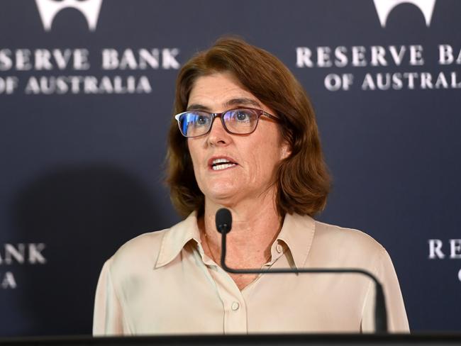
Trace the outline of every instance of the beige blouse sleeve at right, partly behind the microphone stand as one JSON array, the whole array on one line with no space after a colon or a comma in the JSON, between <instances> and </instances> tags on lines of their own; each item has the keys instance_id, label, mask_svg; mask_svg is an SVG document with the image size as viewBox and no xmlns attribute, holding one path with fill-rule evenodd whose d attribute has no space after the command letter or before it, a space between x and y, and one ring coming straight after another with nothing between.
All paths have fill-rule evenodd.
<instances>
[{"instance_id":1,"label":"beige blouse sleeve at right, partly behind the microphone stand","mask_svg":"<svg viewBox=\"0 0 461 346\"><path fill-rule=\"evenodd\" d=\"M399 280L391 262L391 257L386 250L382 250L376 262L377 277L384 289L384 298L387 307L387 328L389 333L409 333L409 322L406 318L404 298L401 295ZM374 282L365 298L365 305L362 313L362 332L374 332Z\"/></svg>"}]
</instances>

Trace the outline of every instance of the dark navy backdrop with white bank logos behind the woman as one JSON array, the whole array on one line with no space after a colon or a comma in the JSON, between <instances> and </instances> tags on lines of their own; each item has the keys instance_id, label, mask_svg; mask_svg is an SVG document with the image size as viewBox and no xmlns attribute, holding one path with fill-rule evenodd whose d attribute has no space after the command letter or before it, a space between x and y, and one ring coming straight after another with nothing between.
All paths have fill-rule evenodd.
<instances>
[{"instance_id":1,"label":"dark navy backdrop with white bank logos behind the woman","mask_svg":"<svg viewBox=\"0 0 461 346\"><path fill-rule=\"evenodd\" d=\"M91 333L104 260L179 221L162 183L174 80L224 34L277 55L310 94L333 174L318 218L387 248L412 330L460 331L460 13L455 0L1 1L0 336Z\"/></svg>"}]
</instances>

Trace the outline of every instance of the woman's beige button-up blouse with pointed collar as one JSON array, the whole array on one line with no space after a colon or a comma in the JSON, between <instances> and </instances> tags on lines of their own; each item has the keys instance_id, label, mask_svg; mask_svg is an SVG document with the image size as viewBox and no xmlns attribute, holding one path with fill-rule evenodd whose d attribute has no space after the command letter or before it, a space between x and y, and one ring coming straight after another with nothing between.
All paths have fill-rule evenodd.
<instances>
[{"instance_id":1,"label":"woman's beige button-up blouse with pointed collar","mask_svg":"<svg viewBox=\"0 0 461 346\"><path fill-rule=\"evenodd\" d=\"M287 215L271 252L263 267L369 270L384 286L389 329L409 331L391 259L369 235ZM192 213L130 240L104 264L93 333L367 333L373 311L374 283L360 274L262 274L240 291L204 254Z\"/></svg>"}]
</instances>

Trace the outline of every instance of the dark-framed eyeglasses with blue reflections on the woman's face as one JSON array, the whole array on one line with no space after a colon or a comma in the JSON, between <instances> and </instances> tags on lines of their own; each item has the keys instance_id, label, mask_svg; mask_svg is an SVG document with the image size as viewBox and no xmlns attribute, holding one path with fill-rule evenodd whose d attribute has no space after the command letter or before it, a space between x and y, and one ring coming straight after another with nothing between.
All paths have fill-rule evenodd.
<instances>
[{"instance_id":1,"label":"dark-framed eyeglasses with blue reflections on the woman's face","mask_svg":"<svg viewBox=\"0 0 461 346\"><path fill-rule=\"evenodd\" d=\"M270 113L256 108L236 108L223 113L209 113L205 111L187 111L179 113L174 118L177 120L179 130L187 138L206 135L211 130L214 118L221 118L223 128L233 135L249 135L256 130L261 116L267 116L274 121L279 118Z\"/></svg>"}]
</instances>

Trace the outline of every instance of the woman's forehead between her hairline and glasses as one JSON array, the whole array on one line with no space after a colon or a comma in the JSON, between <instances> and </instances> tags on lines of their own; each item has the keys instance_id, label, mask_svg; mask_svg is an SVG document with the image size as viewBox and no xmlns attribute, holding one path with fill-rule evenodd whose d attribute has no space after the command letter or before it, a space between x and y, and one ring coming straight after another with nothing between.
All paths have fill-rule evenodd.
<instances>
[{"instance_id":1,"label":"woman's forehead between her hairline and glasses","mask_svg":"<svg viewBox=\"0 0 461 346\"><path fill-rule=\"evenodd\" d=\"M187 108L227 108L229 106L261 108L261 102L243 89L238 79L228 72L210 74L195 80Z\"/></svg>"}]
</instances>

